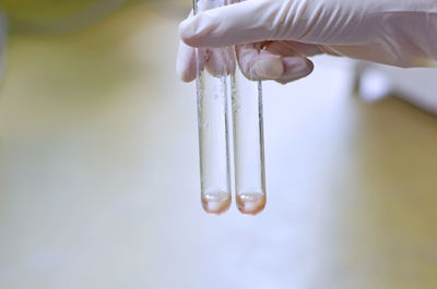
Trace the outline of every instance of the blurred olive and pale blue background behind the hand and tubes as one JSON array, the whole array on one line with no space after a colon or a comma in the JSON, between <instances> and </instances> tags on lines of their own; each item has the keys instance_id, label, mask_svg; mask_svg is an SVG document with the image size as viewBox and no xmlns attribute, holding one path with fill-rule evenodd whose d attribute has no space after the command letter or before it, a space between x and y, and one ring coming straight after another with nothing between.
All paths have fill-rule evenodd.
<instances>
[{"instance_id":1,"label":"blurred olive and pale blue background behind the hand and tubes","mask_svg":"<svg viewBox=\"0 0 437 289\"><path fill-rule=\"evenodd\" d=\"M210 216L190 5L0 0L0 288L437 288L436 71L265 82L267 208Z\"/></svg>"}]
</instances>

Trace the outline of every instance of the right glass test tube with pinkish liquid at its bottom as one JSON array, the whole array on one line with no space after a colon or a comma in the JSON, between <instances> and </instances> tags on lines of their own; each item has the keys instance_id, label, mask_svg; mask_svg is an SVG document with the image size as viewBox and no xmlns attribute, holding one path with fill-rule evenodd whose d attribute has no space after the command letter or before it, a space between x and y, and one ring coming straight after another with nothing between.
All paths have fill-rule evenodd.
<instances>
[{"instance_id":1,"label":"right glass test tube with pinkish liquid at its bottom","mask_svg":"<svg viewBox=\"0 0 437 289\"><path fill-rule=\"evenodd\" d=\"M236 203L241 213L256 215L265 206L261 82L236 69L232 100Z\"/></svg>"}]
</instances>

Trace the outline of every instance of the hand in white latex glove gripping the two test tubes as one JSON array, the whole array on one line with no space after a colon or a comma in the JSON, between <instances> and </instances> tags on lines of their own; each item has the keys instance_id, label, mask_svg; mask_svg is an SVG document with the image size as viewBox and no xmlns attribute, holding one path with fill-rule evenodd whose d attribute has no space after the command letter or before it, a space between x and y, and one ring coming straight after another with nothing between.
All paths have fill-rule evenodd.
<instances>
[{"instance_id":1,"label":"hand in white latex glove gripping the two test tubes","mask_svg":"<svg viewBox=\"0 0 437 289\"><path fill-rule=\"evenodd\" d=\"M196 76L191 47L238 45L243 73L286 83L310 73L306 59L345 56L395 67L437 65L436 0L248 0L188 17L177 71Z\"/></svg>"}]
</instances>

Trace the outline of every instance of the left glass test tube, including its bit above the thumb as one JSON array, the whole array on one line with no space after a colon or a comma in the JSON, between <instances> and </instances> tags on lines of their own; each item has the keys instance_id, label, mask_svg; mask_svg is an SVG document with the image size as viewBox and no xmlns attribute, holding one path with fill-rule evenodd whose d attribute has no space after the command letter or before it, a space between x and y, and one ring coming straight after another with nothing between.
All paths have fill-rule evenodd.
<instances>
[{"instance_id":1,"label":"left glass test tube, including its bit above the thumb","mask_svg":"<svg viewBox=\"0 0 437 289\"><path fill-rule=\"evenodd\" d=\"M193 12L196 14L223 4L223 0L194 0ZM221 63L221 57L226 57L227 50L196 50L201 201L203 209L212 214L226 212L232 200L227 130L228 73L217 64Z\"/></svg>"}]
</instances>

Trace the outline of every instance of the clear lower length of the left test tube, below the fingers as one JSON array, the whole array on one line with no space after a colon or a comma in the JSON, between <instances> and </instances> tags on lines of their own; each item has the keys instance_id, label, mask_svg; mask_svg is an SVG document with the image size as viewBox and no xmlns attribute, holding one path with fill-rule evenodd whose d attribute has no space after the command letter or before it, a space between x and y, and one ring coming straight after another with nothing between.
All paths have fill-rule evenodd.
<instances>
[{"instance_id":1,"label":"clear lower length of the left test tube, below the fingers","mask_svg":"<svg viewBox=\"0 0 437 289\"><path fill-rule=\"evenodd\" d=\"M220 214L231 204L226 76L203 70L197 83L202 206Z\"/></svg>"}]
</instances>

